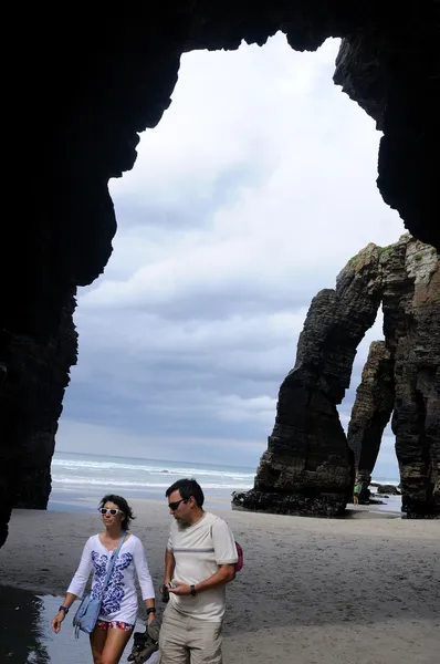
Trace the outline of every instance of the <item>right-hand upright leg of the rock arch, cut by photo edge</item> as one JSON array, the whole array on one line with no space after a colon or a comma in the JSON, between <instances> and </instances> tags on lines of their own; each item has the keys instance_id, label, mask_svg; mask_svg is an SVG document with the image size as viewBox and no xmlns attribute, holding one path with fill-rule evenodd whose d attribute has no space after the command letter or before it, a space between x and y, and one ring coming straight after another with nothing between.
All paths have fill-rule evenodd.
<instances>
[{"instance_id":1,"label":"right-hand upright leg of the rock arch, cut by photo edge","mask_svg":"<svg viewBox=\"0 0 440 664\"><path fill-rule=\"evenodd\" d=\"M391 247L384 333L395 356L392 432L408 517L440 515L440 263L429 246Z\"/></svg>"}]
</instances>

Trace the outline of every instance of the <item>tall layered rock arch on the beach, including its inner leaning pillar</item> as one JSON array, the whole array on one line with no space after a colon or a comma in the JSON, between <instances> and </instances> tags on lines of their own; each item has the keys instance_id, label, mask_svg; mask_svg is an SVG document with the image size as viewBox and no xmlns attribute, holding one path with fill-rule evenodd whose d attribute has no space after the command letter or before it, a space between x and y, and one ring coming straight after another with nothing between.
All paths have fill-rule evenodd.
<instances>
[{"instance_id":1,"label":"tall layered rock arch on the beach, including its inner leaning pillar","mask_svg":"<svg viewBox=\"0 0 440 664\"><path fill-rule=\"evenodd\" d=\"M312 301L294 369L280 388L275 426L247 509L333 516L353 490L355 463L370 477L392 415L409 518L440 518L440 261L402 236L368 245ZM348 429L336 405L349 385L356 347L383 303L385 342L371 344Z\"/></svg>"}]
</instances>

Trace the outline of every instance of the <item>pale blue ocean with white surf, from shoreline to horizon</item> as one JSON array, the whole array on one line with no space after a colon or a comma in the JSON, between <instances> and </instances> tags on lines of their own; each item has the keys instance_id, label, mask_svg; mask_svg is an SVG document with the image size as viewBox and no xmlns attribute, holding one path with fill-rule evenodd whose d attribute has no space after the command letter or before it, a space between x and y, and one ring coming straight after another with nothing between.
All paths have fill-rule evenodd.
<instances>
[{"instance_id":1,"label":"pale blue ocean with white surf, from shoreline to horizon","mask_svg":"<svg viewBox=\"0 0 440 664\"><path fill-rule=\"evenodd\" d=\"M230 507L232 491L253 486L256 467L217 466L195 461L165 461L132 457L55 452L49 509L94 509L105 494L165 500L166 489L181 477L201 485L207 507ZM396 478L374 477L398 485ZM373 489L375 491L375 489ZM391 499L392 508L396 499Z\"/></svg>"}]
</instances>

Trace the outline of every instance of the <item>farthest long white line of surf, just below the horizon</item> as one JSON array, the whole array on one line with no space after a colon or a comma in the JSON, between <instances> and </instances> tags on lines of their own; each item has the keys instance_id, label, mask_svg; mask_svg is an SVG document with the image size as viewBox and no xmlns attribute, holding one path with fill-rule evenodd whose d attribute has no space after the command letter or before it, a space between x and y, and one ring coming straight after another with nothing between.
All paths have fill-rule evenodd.
<instances>
[{"instance_id":1,"label":"farthest long white line of surf, just below the horizon","mask_svg":"<svg viewBox=\"0 0 440 664\"><path fill-rule=\"evenodd\" d=\"M168 467L168 468L158 468L157 466L144 466L144 465L134 465L134 464L119 464L114 461L92 461L92 460L70 460L70 459L52 459L52 468L55 471L55 468L64 468L66 470L134 470L137 473L147 473L148 475L154 476L172 476L177 475L179 477L219 477L219 478L229 478L229 479L238 479L245 480L254 478L254 473L240 473L234 470L211 470L209 468L181 468L181 467ZM172 483L170 483L172 484Z\"/></svg>"}]
</instances>

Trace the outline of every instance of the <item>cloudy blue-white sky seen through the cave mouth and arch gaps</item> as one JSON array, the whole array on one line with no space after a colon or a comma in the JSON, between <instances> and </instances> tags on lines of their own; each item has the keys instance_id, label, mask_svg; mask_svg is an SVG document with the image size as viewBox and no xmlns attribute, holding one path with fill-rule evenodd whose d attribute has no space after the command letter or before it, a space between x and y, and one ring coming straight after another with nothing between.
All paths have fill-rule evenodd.
<instances>
[{"instance_id":1,"label":"cloudy blue-white sky seen through the cave mouth and arch gaps","mask_svg":"<svg viewBox=\"0 0 440 664\"><path fill-rule=\"evenodd\" d=\"M332 82L337 49L279 34L182 56L171 106L111 183L118 232L78 294L57 449L258 465L311 299L405 230L376 188L380 134ZM376 475L395 474L383 447Z\"/></svg>"}]
</instances>

